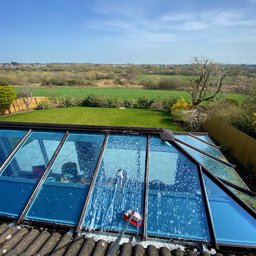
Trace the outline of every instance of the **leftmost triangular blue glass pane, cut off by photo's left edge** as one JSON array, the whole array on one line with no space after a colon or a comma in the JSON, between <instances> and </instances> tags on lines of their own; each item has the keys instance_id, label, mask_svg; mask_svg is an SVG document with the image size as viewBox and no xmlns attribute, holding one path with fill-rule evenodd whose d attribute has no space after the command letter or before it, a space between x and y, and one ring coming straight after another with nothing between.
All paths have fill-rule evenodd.
<instances>
[{"instance_id":1,"label":"leftmost triangular blue glass pane, cut off by photo's left edge","mask_svg":"<svg viewBox=\"0 0 256 256\"><path fill-rule=\"evenodd\" d=\"M24 130L0 130L0 166L18 145L26 132Z\"/></svg>"}]
</instances>

